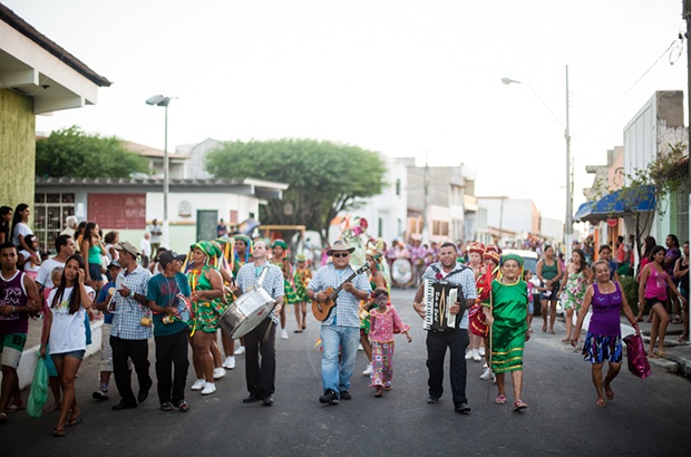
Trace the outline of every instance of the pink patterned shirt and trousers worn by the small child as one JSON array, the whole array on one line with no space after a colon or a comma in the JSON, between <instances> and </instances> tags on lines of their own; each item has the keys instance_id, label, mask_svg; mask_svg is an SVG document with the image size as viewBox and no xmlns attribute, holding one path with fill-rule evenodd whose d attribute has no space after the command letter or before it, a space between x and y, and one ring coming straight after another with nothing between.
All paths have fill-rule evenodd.
<instances>
[{"instance_id":1,"label":"pink patterned shirt and trousers worn by the small child","mask_svg":"<svg viewBox=\"0 0 691 457\"><path fill-rule=\"evenodd\" d=\"M398 315L396 308L388 303L386 309L377 308L370 313L374 324L370 332L372 340L372 375L370 387L391 387L393 379L393 333L405 332L410 329Z\"/></svg>"}]
</instances>

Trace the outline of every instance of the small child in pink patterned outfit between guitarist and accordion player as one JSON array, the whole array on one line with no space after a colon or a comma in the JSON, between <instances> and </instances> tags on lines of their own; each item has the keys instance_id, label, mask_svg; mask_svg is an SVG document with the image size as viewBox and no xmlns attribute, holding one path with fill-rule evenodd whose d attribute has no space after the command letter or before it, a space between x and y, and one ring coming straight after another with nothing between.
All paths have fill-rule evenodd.
<instances>
[{"instance_id":1,"label":"small child in pink patterned outfit between guitarist and accordion player","mask_svg":"<svg viewBox=\"0 0 691 457\"><path fill-rule=\"evenodd\" d=\"M377 308L370 311L370 340L372 342L372 375L370 387L374 388L374 397L381 397L383 390L391 390L393 378L393 333L405 333L408 342L412 341L406 325L389 302L389 292L386 289L374 290L374 300L370 305Z\"/></svg>"}]
</instances>

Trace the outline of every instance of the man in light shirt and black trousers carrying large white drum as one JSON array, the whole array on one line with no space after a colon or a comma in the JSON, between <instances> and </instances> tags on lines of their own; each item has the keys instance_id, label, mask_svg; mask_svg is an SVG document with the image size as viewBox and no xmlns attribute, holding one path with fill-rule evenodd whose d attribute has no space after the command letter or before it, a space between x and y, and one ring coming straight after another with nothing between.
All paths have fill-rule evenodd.
<instances>
[{"instance_id":1,"label":"man in light shirt and black trousers carrying large white drum","mask_svg":"<svg viewBox=\"0 0 691 457\"><path fill-rule=\"evenodd\" d=\"M259 281L264 270L265 276L262 286L276 301L273 314L266 318L245 334L245 380L250 396L242 400L245 403L262 400L264 406L273 405L273 392L275 391L276 378L276 350L275 337L278 315L283 308L283 273L281 269L267 262L266 254L269 249L263 240L254 243L254 261L244 264L237 272L237 289L235 296L241 296L243 292L250 291ZM260 364L260 354L262 356Z\"/></svg>"}]
</instances>

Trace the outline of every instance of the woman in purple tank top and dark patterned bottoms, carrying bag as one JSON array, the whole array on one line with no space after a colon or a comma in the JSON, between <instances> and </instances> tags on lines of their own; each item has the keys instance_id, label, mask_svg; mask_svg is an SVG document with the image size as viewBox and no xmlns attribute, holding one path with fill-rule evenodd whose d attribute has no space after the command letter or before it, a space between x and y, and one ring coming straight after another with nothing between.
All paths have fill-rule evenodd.
<instances>
[{"instance_id":1,"label":"woman in purple tank top and dark patterned bottoms, carrying bag","mask_svg":"<svg viewBox=\"0 0 691 457\"><path fill-rule=\"evenodd\" d=\"M603 393L610 400L614 399L614 392L610 385L619 375L622 366L620 312L624 312L638 333L641 331L626 301L626 294L623 293L619 282L610 280L610 263L601 260L595 262L593 270L595 271L595 282L585 291L585 299L578 312L576 329L571 337L571 344L575 347L578 342L583 319L585 319L585 314L592 304L593 317L583 344L583 356L593 364L593 383L597 391L596 405L604 408L606 403ZM609 361L610 368L603 381L602 366L605 360Z\"/></svg>"}]
</instances>

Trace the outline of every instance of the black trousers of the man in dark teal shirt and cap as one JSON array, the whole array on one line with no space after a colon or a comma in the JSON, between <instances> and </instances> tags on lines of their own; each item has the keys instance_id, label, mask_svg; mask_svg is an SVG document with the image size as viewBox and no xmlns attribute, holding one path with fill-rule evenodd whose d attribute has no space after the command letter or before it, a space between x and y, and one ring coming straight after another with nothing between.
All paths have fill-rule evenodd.
<instances>
[{"instance_id":1,"label":"black trousers of the man in dark teal shirt and cap","mask_svg":"<svg viewBox=\"0 0 691 457\"><path fill-rule=\"evenodd\" d=\"M185 381L189 359L187 358L187 334L183 329L175 334L154 337L156 341L156 379L158 380L158 401L178 405L185 399Z\"/></svg>"}]
</instances>

